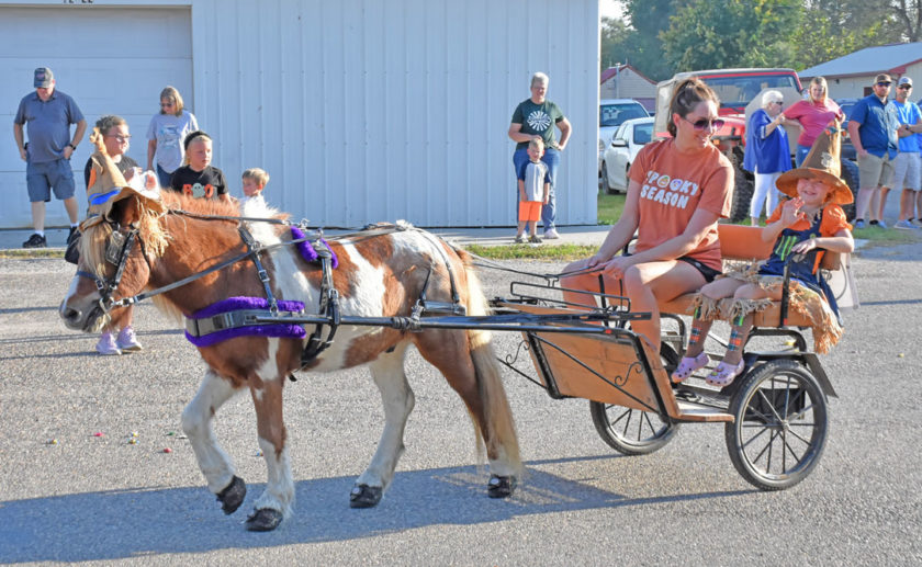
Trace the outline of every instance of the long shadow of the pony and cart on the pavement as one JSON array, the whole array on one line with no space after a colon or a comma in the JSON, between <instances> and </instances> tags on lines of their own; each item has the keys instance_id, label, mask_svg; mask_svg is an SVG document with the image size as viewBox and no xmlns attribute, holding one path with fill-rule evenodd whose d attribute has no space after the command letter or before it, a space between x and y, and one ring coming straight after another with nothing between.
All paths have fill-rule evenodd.
<instances>
[{"instance_id":1,"label":"long shadow of the pony and cart on the pavement","mask_svg":"<svg viewBox=\"0 0 922 567\"><path fill-rule=\"evenodd\" d=\"M595 458L611 458L605 455ZM592 458L589 458L592 460ZM359 540L437 524L480 524L567 510L636 507L741 496L751 490L627 498L533 468L509 500L486 496L476 467L398 473L373 509L349 508L353 477L295 483L295 513L274 532L241 525L265 485L250 485L233 517L204 487L138 488L0 501L0 563L93 562L299 543Z\"/></svg>"}]
</instances>

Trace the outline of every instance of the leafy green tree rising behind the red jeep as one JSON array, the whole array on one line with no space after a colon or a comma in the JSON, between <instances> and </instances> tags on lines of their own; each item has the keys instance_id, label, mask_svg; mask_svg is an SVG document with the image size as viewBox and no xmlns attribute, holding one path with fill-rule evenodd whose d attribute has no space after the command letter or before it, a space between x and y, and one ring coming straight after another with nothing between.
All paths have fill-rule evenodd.
<instances>
[{"instance_id":1,"label":"leafy green tree rising behind the red jeep","mask_svg":"<svg viewBox=\"0 0 922 567\"><path fill-rule=\"evenodd\" d=\"M681 70L783 67L795 59L791 39L802 15L801 0L694 0L660 37Z\"/></svg>"}]
</instances>

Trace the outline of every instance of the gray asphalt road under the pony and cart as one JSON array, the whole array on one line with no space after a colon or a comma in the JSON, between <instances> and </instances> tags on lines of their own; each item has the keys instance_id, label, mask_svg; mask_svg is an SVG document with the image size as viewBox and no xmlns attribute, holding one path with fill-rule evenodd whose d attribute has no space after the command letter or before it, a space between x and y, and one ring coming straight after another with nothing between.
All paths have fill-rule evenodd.
<instances>
[{"instance_id":1,"label":"gray asphalt road under the pony and cart","mask_svg":"<svg viewBox=\"0 0 922 567\"><path fill-rule=\"evenodd\" d=\"M250 490L225 517L179 428L204 373L180 325L144 303L145 349L98 355L97 337L57 315L74 267L0 259L0 564L920 565L922 243L865 248L854 270L862 307L821 356L839 394L825 451L791 489L747 485L720 424L686 424L651 455L621 456L585 400L551 399L504 371L527 474L511 499L491 500L460 398L411 352L416 408L379 507L348 506L383 427L368 371L302 374L285 388L295 514L254 534L241 522L266 466L249 396L215 423ZM485 272L486 294L514 277ZM494 340L528 370L516 333Z\"/></svg>"}]
</instances>

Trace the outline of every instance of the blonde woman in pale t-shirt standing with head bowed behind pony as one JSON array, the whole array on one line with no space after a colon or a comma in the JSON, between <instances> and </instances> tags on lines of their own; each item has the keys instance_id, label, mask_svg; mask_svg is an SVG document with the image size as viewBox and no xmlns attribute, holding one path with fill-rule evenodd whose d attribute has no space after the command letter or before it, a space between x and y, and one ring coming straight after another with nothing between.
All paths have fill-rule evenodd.
<instances>
[{"instance_id":1,"label":"blonde woman in pale t-shirt standing with head bowed behind pony","mask_svg":"<svg viewBox=\"0 0 922 567\"><path fill-rule=\"evenodd\" d=\"M182 104L182 97L173 87L160 91L160 112L150 118L147 127L147 169L157 166L160 186L170 186L170 177L185 157L182 140L199 129L195 116Z\"/></svg>"}]
</instances>

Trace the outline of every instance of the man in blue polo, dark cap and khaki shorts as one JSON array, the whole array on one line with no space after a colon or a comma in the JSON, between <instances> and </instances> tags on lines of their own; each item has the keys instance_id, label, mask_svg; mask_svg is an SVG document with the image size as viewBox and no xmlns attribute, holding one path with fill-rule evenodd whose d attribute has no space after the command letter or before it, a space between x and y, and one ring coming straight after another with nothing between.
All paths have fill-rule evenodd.
<instances>
[{"instance_id":1,"label":"man in blue polo, dark cap and khaki shorts","mask_svg":"<svg viewBox=\"0 0 922 567\"><path fill-rule=\"evenodd\" d=\"M897 158L897 109L887 103L890 93L889 75L874 79L874 93L859 100L848 116L848 136L858 155L861 189L855 200L855 228L865 227L865 213L872 199L879 196L881 188L889 188ZM882 209L882 206L880 207ZM878 207L870 206L870 224L887 228L880 218L874 218Z\"/></svg>"}]
</instances>

